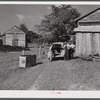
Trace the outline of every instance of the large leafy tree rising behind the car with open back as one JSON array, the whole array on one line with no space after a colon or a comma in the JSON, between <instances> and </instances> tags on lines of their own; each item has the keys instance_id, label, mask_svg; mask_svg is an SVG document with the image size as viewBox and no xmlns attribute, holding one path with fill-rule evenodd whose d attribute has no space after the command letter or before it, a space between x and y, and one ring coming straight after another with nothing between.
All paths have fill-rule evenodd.
<instances>
[{"instance_id":1,"label":"large leafy tree rising behind the car with open back","mask_svg":"<svg viewBox=\"0 0 100 100\"><path fill-rule=\"evenodd\" d=\"M59 36L72 34L75 28L74 20L79 16L78 11L70 5L53 5L52 12L46 15L37 27L42 34L51 32L55 41L59 41Z\"/></svg>"}]
</instances>

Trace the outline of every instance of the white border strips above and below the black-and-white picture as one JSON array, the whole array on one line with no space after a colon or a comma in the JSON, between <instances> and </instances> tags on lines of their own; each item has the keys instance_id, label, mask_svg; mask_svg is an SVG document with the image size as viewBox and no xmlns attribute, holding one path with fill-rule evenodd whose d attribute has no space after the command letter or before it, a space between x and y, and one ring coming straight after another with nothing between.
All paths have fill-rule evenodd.
<instances>
[{"instance_id":1,"label":"white border strips above and below the black-and-white picture","mask_svg":"<svg viewBox=\"0 0 100 100\"><path fill-rule=\"evenodd\" d=\"M99 1L0 1L0 5L100 5ZM0 98L100 98L100 91L0 90Z\"/></svg>"}]
</instances>

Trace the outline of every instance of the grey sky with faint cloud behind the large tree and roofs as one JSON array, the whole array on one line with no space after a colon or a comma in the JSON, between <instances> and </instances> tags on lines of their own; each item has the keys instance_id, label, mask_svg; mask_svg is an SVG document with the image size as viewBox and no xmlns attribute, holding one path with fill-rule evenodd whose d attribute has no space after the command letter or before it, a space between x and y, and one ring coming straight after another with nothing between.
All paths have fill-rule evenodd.
<instances>
[{"instance_id":1,"label":"grey sky with faint cloud behind the large tree and roofs","mask_svg":"<svg viewBox=\"0 0 100 100\"><path fill-rule=\"evenodd\" d=\"M72 5L81 15L87 14L100 5ZM30 30L40 24L45 15L50 14L51 5L0 5L0 32L25 23Z\"/></svg>"}]
</instances>

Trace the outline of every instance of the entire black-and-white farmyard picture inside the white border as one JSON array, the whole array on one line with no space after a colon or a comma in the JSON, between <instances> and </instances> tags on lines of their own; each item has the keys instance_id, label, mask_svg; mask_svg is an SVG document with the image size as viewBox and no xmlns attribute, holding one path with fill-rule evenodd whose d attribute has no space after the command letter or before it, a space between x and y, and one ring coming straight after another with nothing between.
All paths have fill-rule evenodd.
<instances>
[{"instance_id":1,"label":"entire black-and-white farmyard picture inside the white border","mask_svg":"<svg viewBox=\"0 0 100 100\"><path fill-rule=\"evenodd\" d=\"M100 90L100 5L0 4L0 90Z\"/></svg>"}]
</instances>

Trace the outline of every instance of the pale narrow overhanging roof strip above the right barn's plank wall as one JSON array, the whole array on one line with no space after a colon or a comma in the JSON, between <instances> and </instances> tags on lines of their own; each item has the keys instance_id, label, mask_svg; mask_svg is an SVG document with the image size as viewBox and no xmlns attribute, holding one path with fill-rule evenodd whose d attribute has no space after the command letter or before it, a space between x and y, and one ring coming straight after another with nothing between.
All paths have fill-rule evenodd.
<instances>
[{"instance_id":1,"label":"pale narrow overhanging roof strip above the right barn's plank wall","mask_svg":"<svg viewBox=\"0 0 100 100\"><path fill-rule=\"evenodd\" d=\"M74 29L75 32L100 32L100 26L79 26Z\"/></svg>"}]
</instances>

